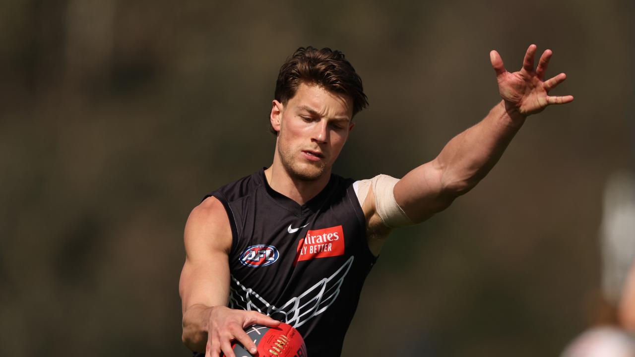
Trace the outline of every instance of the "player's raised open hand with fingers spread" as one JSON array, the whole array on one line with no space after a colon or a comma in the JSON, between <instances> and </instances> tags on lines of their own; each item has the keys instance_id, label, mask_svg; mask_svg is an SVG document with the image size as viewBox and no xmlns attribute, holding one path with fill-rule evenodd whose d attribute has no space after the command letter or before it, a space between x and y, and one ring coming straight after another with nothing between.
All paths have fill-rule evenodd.
<instances>
[{"instance_id":1,"label":"player's raised open hand with fingers spread","mask_svg":"<svg viewBox=\"0 0 635 357\"><path fill-rule=\"evenodd\" d=\"M544 80L545 71L551 58L551 50L545 50L540 56L538 67L533 71L533 58L537 46L531 44L525 54L523 68L518 72L507 72L503 60L497 51L490 52L491 67L496 71L500 97L508 110L515 110L521 116L530 116L541 112L550 104L566 104L573 100L572 95L550 96L549 91L566 79L566 74Z\"/></svg>"}]
</instances>

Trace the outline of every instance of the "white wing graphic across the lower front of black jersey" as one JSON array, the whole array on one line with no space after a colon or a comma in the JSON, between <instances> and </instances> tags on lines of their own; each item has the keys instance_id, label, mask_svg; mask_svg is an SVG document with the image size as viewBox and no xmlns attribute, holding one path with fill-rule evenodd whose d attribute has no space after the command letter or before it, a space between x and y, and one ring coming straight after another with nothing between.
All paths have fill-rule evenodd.
<instances>
[{"instance_id":1,"label":"white wing graphic across the lower front of black jersey","mask_svg":"<svg viewBox=\"0 0 635 357\"><path fill-rule=\"evenodd\" d=\"M298 328L314 316L326 311L335 302L340 293L340 286L344 283L344 278L349 273L354 258L351 256L333 275L320 280L300 296L291 298L282 307L269 304L257 292L242 285L232 276L229 307L258 311L258 313L267 314L276 320Z\"/></svg>"}]
</instances>

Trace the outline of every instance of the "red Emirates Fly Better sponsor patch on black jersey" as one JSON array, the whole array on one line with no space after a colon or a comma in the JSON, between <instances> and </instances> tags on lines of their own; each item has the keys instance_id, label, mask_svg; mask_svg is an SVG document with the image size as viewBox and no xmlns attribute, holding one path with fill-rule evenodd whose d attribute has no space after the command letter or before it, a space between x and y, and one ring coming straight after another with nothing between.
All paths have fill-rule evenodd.
<instances>
[{"instance_id":1,"label":"red Emirates Fly Better sponsor patch on black jersey","mask_svg":"<svg viewBox=\"0 0 635 357\"><path fill-rule=\"evenodd\" d=\"M337 257L344 254L342 226L308 231L298 243L296 262L316 258Z\"/></svg>"}]
</instances>

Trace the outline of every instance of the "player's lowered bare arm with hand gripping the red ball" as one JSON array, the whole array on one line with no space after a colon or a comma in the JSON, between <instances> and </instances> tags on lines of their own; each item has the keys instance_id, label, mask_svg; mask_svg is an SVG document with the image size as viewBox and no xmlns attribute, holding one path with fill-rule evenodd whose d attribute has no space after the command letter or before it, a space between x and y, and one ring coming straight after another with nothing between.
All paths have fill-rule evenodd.
<instances>
[{"instance_id":1,"label":"player's lowered bare arm with hand gripping the red ball","mask_svg":"<svg viewBox=\"0 0 635 357\"><path fill-rule=\"evenodd\" d=\"M182 299L183 342L192 351L218 357L235 357L231 341L246 349L255 344L243 328L255 323L275 327L279 321L256 311L227 307L229 250L232 232L218 199L207 198L190 213L185 224L185 264L178 290Z\"/></svg>"}]
</instances>

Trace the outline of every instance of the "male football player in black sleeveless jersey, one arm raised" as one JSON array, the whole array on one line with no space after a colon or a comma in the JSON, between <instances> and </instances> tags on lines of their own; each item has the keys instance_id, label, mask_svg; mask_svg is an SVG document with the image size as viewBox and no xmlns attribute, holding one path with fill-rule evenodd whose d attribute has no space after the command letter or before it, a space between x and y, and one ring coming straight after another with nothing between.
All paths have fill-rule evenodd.
<instances>
[{"instance_id":1,"label":"male football player in black sleeveless jersey, one arm raised","mask_svg":"<svg viewBox=\"0 0 635 357\"><path fill-rule=\"evenodd\" d=\"M547 93L551 51L534 70L507 72L491 51L502 100L435 159L401 180L343 179L331 167L366 107L362 83L339 51L300 48L281 67L271 106L273 163L213 191L185 225L179 291L185 346L235 357L232 340L255 323L297 328L310 357L340 356L364 279L391 229L441 212L485 177L530 114L572 96ZM240 357L240 356L239 356Z\"/></svg>"}]
</instances>

